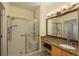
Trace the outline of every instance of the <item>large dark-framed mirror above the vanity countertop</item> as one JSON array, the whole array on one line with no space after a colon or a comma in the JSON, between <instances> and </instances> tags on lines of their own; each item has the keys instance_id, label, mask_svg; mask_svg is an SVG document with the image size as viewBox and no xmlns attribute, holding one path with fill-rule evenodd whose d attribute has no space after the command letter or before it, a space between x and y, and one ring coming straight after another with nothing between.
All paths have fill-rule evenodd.
<instances>
[{"instance_id":1,"label":"large dark-framed mirror above the vanity countertop","mask_svg":"<svg viewBox=\"0 0 79 59\"><path fill-rule=\"evenodd\" d=\"M49 36L66 38L78 41L79 38L79 11L53 17L46 20L46 34Z\"/></svg>"}]
</instances>

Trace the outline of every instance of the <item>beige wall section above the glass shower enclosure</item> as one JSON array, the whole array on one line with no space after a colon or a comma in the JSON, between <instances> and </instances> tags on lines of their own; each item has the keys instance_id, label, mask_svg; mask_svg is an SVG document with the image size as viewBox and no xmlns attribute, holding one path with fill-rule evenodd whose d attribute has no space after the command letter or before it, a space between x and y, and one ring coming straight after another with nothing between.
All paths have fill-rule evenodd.
<instances>
[{"instance_id":1,"label":"beige wall section above the glass shower enclosure","mask_svg":"<svg viewBox=\"0 0 79 59\"><path fill-rule=\"evenodd\" d=\"M9 6L9 16L20 17L25 19L34 19L33 11L19 8L16 6Z\"/></svg>"}]
</instances>

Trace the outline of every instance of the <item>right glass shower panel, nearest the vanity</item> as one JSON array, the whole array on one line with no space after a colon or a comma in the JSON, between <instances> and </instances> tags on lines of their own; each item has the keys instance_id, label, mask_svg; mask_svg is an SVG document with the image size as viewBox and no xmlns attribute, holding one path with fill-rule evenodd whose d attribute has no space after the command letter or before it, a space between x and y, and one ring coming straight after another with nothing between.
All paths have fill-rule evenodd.
<instances>
[{"instance_id":1,"label":"right glass shower panel, nearest the vanity","mask_svg":"<svg viewBox=\"0 0 79 59\"><path fill-rule=\"evenodd\" d=\"M38 50L38 26L35 21L26 21L26 53Z\"/></svg>"}]
</instances>

